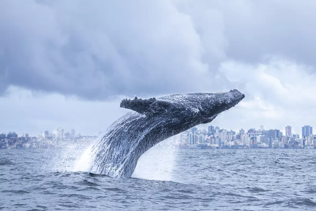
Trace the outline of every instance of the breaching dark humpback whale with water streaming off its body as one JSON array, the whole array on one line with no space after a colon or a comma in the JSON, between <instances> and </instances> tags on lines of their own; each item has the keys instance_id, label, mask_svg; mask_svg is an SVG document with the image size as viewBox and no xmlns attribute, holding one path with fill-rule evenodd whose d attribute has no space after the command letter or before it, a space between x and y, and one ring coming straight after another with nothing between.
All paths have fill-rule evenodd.
<instances>
[{"instance_id":1,"label":"breaching dark humpback whale with water streaming off its body","mask_svg":"<svg viewBox=\"0 0 316 211\"><path fill-rule=\"evenodd\" d=\"M123 115L91 148L90 172L110 177L131 177L140 156L157 143L199 124L209 123L238 104L238 90L191 93L150 99L124 99Z\"/></svg>"}]
</instances>

